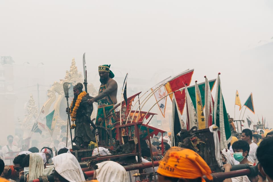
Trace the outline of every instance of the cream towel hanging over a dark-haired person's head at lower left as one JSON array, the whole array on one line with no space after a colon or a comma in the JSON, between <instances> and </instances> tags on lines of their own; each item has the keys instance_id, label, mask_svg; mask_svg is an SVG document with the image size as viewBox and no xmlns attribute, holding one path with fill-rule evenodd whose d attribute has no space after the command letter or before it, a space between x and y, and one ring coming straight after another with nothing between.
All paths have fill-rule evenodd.
<instances>
[{"instance_id":1,"label":"cream towel hanging over a dark-haired person's head at lower left","mask_svg":"<svg viewBox=\"0 0 273 182\"><path fill-rule=\"evenodd\" d=\"M44 161L37 153L29 154L29 178L28 181L32 182L34 179L42 176L44 173Z\"/></svg>"}]
</instances>

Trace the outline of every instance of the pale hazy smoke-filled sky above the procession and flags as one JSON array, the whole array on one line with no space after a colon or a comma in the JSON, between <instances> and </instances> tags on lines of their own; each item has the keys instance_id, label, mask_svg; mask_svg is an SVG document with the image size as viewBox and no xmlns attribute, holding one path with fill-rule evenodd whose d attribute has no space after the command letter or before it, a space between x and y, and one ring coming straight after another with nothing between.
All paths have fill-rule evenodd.
<instances>
[{"instance_id":1,"label":"pale hazy smoke-filled sky above the procession and flags","mask_svg":"<svg viewBox=\"0 0 273 182\"><path fill-rule=\"evenodd\" d=\"M238 89L242 104L253 92L256 115L245 116L273 119L272 51L253 49L273 37L270 0L0 0L0 22L0 56L13 57L16 65L27 61L33 69L44 63L46 85L65 76L73 57L82 71L84 52L89 75L111 64L117 76L129 73L128 87L130 78L146 79L152 87L188 68L195 69L192 83L221 72L231 117Z\"/></svg>"}]
</instances>

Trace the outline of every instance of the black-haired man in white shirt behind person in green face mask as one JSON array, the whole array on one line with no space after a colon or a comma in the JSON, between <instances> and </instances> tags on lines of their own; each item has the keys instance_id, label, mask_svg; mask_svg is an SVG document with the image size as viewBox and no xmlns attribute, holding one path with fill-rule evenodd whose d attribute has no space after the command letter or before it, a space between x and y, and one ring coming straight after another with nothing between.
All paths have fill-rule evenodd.
<instances>
[{"instance_id":1,"label":"black-haired man in white shirt behind person in green face mask","mask_svg":"<svg viewBox=\"0 0 273 182\"><path fill-rule=\"evenodd\" d=\"M248 150L247 159L254 164L257 159L256 151L257 151L258 145L251 141L252 140L251 130L250 129L243 129L241 139L246 141L249 144L250 149Z\"/></svg>"}]
</instances>

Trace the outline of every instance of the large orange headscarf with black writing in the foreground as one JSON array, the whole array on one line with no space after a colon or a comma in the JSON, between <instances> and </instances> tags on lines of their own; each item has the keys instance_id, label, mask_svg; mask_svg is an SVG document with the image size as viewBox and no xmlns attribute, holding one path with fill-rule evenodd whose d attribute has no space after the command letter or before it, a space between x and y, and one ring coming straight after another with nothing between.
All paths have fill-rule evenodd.
<instances>
[{"instance_id":1,"label":"large orange headscarf with black writing in the foreground","mask_svg":"<svg viewBox=\"0 0 273 182\"><path fill-rule=\"evenodd\" d=\"M160 161L157 173L174 178L196 179L206 177L212 180L208 164L196 152L181 147L171 147ZM202 178L202 182L205 180Z\"/></svg>"}]
</instances>

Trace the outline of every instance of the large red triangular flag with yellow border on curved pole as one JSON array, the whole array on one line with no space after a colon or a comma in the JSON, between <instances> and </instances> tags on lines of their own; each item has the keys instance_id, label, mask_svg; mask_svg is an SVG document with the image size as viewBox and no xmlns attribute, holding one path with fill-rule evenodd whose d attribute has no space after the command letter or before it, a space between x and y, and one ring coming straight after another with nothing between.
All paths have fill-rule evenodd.
<instances>
[{"instance_id":1,"label":"large red triangular flag with yellow border on curved pole","mask_svg":"<svg viewBox=\"0 0 273 182\"><path fill-rule=\"evenodd\" d=\"M165 88L168 94L171 92L174 92L175 90L185 87L186 84L189 86L191 83L191 77L193 76L193 71L194 69L183 72L179 74L178 76L175 76L174 78L172 78L172 80L165 85ZM175 101L177 104L177 109L182 115L183 109L185 106L185 89L182 90L182 92L175 92L174 95L175 95ZM170 94L171 99L172 97L173 95Z\"/></svg>"}]
</instances>

